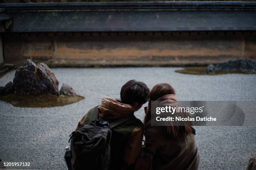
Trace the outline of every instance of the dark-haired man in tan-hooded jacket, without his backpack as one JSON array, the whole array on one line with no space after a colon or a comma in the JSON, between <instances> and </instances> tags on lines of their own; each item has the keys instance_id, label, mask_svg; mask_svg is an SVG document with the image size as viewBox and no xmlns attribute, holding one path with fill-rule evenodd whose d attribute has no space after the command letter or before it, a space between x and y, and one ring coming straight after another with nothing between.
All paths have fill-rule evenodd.
<instances>
[{"instance_id":1,"label":"dark-haired man in tan-hooded jacket, without his backpack","mask_svg":"<svg viewBox=\"0 0 256 170\"><path fill-rule=\"evenodd\" d=\"M110 97L103 97L98 107L99 119L112 123L120 117L133 115L148 101L149 89L145 83L130 80L120 91L120 101ZM79 129L84 124L90 124L93 110L89 110L77 125ZM112 128L110 141L111 164L110 170L120 170L133 165L141 153L143 139L143 123L135 116L131 120Z\"/></svg>"}]
</instances>

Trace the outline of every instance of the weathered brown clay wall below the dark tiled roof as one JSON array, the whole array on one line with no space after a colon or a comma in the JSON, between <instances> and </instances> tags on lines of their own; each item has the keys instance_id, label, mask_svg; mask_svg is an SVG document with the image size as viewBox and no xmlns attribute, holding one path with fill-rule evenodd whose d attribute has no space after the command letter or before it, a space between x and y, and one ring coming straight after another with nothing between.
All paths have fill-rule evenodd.
<instances>
[{"instance_id":1,"label":"weathered brown clay wall below the dark tiled roof","mask_svg":"<svg viewBox=\"0 0 256 170\"><path fill-rule=\"evenodd\" d=\"M30 58L51 66L205 65L256 60L256 33L31 33L4 36L6 64Z\"/></svg>"}]
</instances>

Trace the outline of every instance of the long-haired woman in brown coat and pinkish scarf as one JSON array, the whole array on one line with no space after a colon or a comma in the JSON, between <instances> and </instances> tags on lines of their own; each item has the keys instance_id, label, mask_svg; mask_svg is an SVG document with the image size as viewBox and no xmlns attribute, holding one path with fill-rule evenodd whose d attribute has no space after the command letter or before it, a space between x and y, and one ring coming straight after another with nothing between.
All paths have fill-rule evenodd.
<instances>
[{"instance_id":1,"label":"long-haired woman in brown coat and pinkish scarf","mask_svg":"<svg viewBox=\"0 0 256 170\"><path fill-rule=\"evenodd\" d=\"M153 170L197 170L199 155L195 129L186 126L151 126L151 101L177 102L173 87L158 84L150 92L144 119L145 146L153 155Z\"/></svg>"}]
</instances>

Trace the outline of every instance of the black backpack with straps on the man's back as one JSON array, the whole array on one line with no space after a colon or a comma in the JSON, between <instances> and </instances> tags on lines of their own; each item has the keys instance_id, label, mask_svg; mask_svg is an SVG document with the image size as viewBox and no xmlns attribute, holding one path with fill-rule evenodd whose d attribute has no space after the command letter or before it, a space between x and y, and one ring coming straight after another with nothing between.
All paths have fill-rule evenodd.
<instances>
[{"instance_id":1,"label":"black backpack with straps on the man's back","mask_svg":"<svg viewBox=\"0 0 256 170\"><path fill-rule=\"evenodd\" d=\"M134 115L121 117L113 123L98 119L98 106L94 108L90 125L83 125L70 135L72 170L108 170L110 167L111 128L114 128ZM68 164L68 163L67 163Z\"/></svg>"}]
</instances>

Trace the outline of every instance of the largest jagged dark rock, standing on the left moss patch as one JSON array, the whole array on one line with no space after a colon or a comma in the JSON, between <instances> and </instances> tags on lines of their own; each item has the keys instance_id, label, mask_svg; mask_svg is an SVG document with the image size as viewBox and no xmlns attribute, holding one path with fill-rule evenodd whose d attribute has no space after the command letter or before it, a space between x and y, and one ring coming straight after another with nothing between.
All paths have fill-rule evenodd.
<instances>
[{"instance_id":1,"label":"largest jagged dark rock, standing on the left moss patch","mask_svg":"<svg viewBox=\"0 0 256 170\"><path fill-rule=\"evenodd\" d=\"M59 82L44 63L27 60L16 70L13 84L17 95L59 95Z\"/></svg>"}]
</instances>

